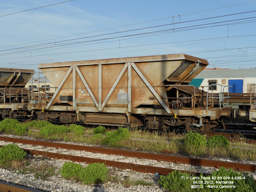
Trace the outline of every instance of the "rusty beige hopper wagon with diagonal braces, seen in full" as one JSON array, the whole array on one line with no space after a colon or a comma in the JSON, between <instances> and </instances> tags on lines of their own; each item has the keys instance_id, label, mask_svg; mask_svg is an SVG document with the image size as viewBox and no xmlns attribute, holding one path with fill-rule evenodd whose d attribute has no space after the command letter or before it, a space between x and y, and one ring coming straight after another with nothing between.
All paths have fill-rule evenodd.
<instances>
[{"instance_id":1,"label":"rusty beige hopper wagon with diagonal braces, seen in full","mask_svg":"<svg viewBox=\"0 0 256 192\"><path fill-rule=\"evenodd\" d=\"M234 111L214 108L201 90L188 85L207 65L207 60L186 54L40 64L56 88L54 95L41 94L42 87L32 89L27 103L0 103L3 114L11 114L2 117L20 117L22 108L30 119L67 125L183 126L212 132L222 126L222 116L234 116Z\"/></svg>"}]
</instances>

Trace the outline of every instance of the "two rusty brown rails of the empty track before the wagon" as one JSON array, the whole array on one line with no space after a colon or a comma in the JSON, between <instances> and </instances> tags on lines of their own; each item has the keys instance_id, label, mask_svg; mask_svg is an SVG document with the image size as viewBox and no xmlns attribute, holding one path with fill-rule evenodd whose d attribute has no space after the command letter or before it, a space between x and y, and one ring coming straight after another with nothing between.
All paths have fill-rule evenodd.
<instances>
[{"instance_id":1,"label":"two rusty brown rails of the empty track before the wagon","mask_svg":"<svg viewBox=\"0 0 256 192\"><path fill-rule=\"evenodd\" d=\"M81 146L81 145L73 145L73 144L64 144L64 143L56 143L56 142L49 142L49 141L37 141L37 140L27 140L27 139L20 139L20 138L10 138L10 137L0 137L0 140L9 141L14 143L23 143L23 144L30 144L30 145L40 145L44 147L54 147L54 148L63 148L63 149L72 149L72 150L81 150L81 151L88 151L93 153L102 153L108 155L121 155L121 156L129 156L129 157L136 157L139 159L152 159L157 161L166 161L166 162L175 162L183 163L183 164L192 164L192 165L202 165L202 166L209 166L209 167L216 167L219 168L221 166L225 168L233 168L239 171L249 171L254 172L256 171L256 165L254 164L244 164L244 163L234 163L234 162L226 162L226 161L216 161L216 160L208 160L208 159L199 159L199 158L191 158L191 157L183 157L183 156L172 156L172 155L163 155L163 154L155 154L155 153L145 153L145 152L136 152L136 151L128 151L128 150L119 150L119 149L109 149L109 148L99 148L99 147L88 147L88 146ZM64 158L70 159L72 161L83 161L87 163L105 163L109 166L115 166L121 169L133 169L138 172L158 172L160 174L167 174L168 172L173 171L169 168L160 168L156 170L156 167L151 167L148 165L139 165L139 164L131 164L131 163L123 163L118 162L115 164L114 161L102 160L102 159L93 159L88 157L81 157L81 156L70 156L65 154L54 154L51 152L45 151L35 151L35 150L28 150L32 154L38 154L45 157L52 157L52 158Z\"/></svg>"}]
</instances>

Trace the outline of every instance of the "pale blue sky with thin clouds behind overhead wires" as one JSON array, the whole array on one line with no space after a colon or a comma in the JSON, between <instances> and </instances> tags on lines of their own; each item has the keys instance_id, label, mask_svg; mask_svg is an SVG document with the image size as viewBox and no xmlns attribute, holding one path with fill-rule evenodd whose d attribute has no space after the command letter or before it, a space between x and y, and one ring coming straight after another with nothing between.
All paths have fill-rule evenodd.
<instances>
[{"instance_id":1,"label":"pale blue sky with thin clouds behind overhead wires","mask_svg":"<svg viewBox=\"0 0 256 192\"><path fill-rule=\"evenodd\" d=\"M1 0L0 16L64 1ZM252 0L70 1L0 17L0 64L36 70L44 62L186 53L208 68L254 68L253 11Z\"/></svg>"}]
</instances>

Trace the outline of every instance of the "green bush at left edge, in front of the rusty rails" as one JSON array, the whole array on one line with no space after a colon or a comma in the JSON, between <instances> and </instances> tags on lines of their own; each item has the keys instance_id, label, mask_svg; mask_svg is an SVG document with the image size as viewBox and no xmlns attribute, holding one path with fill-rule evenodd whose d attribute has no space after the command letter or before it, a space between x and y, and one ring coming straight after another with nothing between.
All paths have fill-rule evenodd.
<instances>
[{"instance_id":1,"label":"green bush at left edge, in front of the rusty rails","mask_svg":"<svg viewBox=\"0 0 256 192\"><path fill-rule=\"evenodd\" d=\"M8 166L11 161L22 161L26 157L26 152L17 145L8 144L0 148L0 164Z\"/></svg>"}]
</instances>

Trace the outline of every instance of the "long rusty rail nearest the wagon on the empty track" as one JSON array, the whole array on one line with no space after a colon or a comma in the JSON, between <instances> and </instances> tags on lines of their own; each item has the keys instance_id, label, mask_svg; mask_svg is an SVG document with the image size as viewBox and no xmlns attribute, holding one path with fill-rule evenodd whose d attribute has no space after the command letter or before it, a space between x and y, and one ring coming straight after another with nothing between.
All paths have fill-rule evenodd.
<instances>
[{"instance_id":1,"label":"long rusty rail nearest the wagon on the empty track","mask_svg":"<svg viewBox=\"0 0 256 192\"><path fill-rule=\"evenodd\" d=\"M73 149L73 150L80 150L80 151L84 150L87 152L102 153L102 154L108 154L108 155L111 155L111 154L122 155L122 156L136 157L140 159L144 158L144 159L152 159L157 161L193 164L197 166L202 165L202 166L209 166L209 167L216 167L216 168L223 166L226 169L233 168L235 170L244 170L249 172L256 171L256 165L254 164L233 163L233 162L226 162L226 161L215 161L215 160L209 160L209 159L199 159L199 158L163 155L163 154L156 154L156 153L145 153L145 152L119 150L119 149L88 147L88 146L82 146L82 145L72 145L72 144L27 140L27 139L1 137L1 136L0 136L0 140L14 142L14 143L18 142L18 143L30 144L30 145L41 145L45 147L65 148L65 149Z\"/></svg>"}]
</instances>

